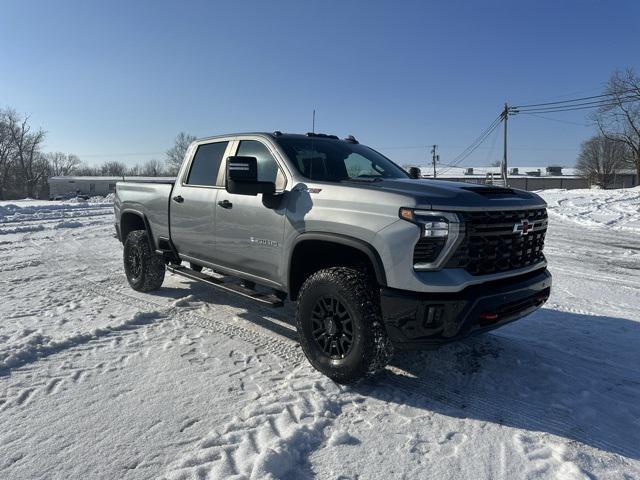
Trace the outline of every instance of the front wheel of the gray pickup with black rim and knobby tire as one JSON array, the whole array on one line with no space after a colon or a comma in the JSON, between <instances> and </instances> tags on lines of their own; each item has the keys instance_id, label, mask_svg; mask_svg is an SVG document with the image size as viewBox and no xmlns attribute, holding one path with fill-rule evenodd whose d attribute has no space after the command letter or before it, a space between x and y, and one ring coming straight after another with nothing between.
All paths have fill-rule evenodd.
<instances>
[{"instance_id":1,"label":"front wheel of the gray pickup with black rim and knobby tire","mask_svg":"<svg viewBox=\"0 0 640 480\"><path fill-rule=\"evenodd\" d=\"M296 323L311 365L337 383L376 372L392 355L375 285L364 271L332 267L307 278Z\"/></svg>"}]
</instances>

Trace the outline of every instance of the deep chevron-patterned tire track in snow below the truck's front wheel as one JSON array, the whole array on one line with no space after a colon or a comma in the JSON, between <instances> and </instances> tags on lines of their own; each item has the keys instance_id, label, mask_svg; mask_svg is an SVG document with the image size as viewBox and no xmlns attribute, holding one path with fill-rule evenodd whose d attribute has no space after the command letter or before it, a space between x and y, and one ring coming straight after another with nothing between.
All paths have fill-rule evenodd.
<instances>
[{"instance_id":1,"label":"deep chevron-patterned tire track in snow below the truck's front wheel","mask_svg":"<svg viewBox=\"0 0 640 480\"><path fill-rule=\"evenodd\" d=\"M308 455L326 441L325 429L348 400L310 367L288 374L224 426L173 462L162 478L280 479L300 476ZM342 398L341 398L342 397ZM339 400L340 398L340 400Z\"/></svg>"}]
</instances>

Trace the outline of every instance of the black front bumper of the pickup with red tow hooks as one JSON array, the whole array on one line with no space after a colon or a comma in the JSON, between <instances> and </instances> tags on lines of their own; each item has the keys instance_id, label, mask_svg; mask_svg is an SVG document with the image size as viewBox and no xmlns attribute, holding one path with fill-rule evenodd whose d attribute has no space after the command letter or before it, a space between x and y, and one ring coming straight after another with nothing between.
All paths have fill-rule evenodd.
<instances>
[{"instance_id":1,"label":"black front bumper of the pickup with red tow hooks","mask_svg":"<svg viewBox=\"0 0 640 480\"><path fill-rule=\"evenodd\" d=\"M455 293L380 290L389 339L399 348L437 346L513 322L549 298L546 268L469 286Z\"/></svg>"}]
</instances>

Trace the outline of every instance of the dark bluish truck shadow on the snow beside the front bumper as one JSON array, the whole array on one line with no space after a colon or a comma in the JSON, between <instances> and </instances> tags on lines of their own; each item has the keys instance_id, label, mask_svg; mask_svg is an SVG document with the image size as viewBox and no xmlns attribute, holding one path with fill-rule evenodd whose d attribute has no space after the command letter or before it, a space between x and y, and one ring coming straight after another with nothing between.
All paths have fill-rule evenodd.
<instances>
[{"instance_id":1,"label":"dark bluish truck shadow on the snow beside the front bumper","mask_svg":"<svg viewBox=\"0 0 640 480\"><path fill-rule=\"evenodd\" d=\"M640 459L640 323L542 309L490 334L396 355L362 394L547 432ZM404 395L397 395L400 389Z\"/></svg>"}]
</instances>

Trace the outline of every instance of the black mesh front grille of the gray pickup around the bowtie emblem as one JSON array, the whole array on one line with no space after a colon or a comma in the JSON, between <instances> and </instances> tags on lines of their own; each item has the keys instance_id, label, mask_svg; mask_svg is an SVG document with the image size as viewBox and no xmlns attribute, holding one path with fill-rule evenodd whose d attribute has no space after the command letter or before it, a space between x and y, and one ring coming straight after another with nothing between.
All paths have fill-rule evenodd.
<instances>
[{"instance_id":1,"label":"black mesh front grille of the gray pickup around the bowtie emblem","mask_svg":"<svg viewBox=\"0 0 640 480\"><path fill-rule=\"evenodd\" d=\"M447 261L446 268L464 268L471 275L486 275L544 260L546 209L463 212L461 215L465 237ZM514 232L514 226L520 225L522 220L533 224L526 235Z\"/></svg>"}]
</instances>

